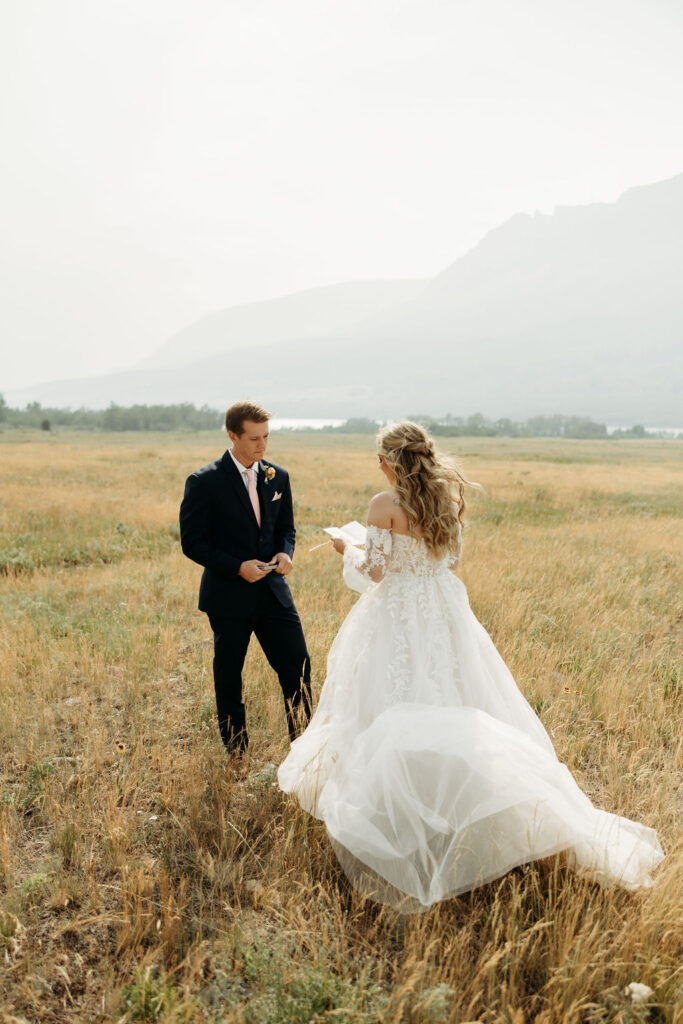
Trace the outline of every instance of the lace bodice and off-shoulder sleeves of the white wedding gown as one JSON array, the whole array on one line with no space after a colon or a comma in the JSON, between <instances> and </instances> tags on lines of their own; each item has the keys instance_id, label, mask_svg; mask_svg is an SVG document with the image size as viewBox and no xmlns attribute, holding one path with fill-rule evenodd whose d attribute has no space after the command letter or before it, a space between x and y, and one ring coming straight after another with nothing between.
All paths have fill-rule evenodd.
<instances>
[{"instance_id":1,"label":"lace bodice and off-shoulder sleeves of the white wedding gown","mask_svg":"<svg viewBox=\"0 0 683 1024\"><path fill-rule=\"evenodd\" d=\"M419 537L369 525L365 551L350 545L344 551L344 582L362 593L385 577L434 577L456 568L459 561L460 549L457 555L435 558Z\"/></svg>"}]
</instances>

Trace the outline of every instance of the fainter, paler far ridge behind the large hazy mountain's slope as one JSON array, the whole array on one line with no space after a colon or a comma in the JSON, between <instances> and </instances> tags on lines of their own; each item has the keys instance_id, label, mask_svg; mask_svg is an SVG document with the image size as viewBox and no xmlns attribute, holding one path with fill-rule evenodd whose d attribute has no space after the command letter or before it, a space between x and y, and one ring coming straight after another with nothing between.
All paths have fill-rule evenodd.
<instances>
[{"instance_id":1,"label":"fainter, paler far ridge behind the large hazy mountain's slope","mask_svg":"<svg viewBox=\"0 0 683 1024\"><path fill-rule=\"evenodd\" d=\"M310 288L280 299L231 306L203 316L173 335L139 367L168 367L236 348L314 338L410 301L428 281L353 281Z\"/></svg>"}]
</instances>

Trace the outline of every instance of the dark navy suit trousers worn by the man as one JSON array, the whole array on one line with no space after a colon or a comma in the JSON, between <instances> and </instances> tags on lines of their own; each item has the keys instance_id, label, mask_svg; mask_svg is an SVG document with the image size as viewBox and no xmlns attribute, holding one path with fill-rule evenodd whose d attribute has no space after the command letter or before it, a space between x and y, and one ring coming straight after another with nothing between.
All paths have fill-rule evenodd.
<instances>
[{"instance_id":1,"label":"dark navy suit trousers worn by the man","mask_svg":"<svg viewBox=\"0 0 683 1024\"><path fill-rule=\"evenodd\" d=\"M258 588L252 608L238 607L230 614L209 614L218 728L223 743L233 752L245 751L249 745L242 669L252 633L278 674L290 739L296 739L310 719L310 658L299 613L294 605L284 607L265 581L251 586Z\"/></svg>"}]
</instances>

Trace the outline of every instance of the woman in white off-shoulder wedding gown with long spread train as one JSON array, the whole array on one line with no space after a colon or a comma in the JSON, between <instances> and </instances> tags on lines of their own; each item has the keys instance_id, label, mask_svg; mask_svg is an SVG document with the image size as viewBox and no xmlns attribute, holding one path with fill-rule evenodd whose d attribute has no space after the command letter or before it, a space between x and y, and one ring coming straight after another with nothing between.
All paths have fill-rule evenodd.
<instances>
[{"instance_id":1,"label":"woman in white off-shoulder wedding gown with long spread train","mask_svg":"<svg viewBox=\"0 0 683 1024\"><path fill-rule=\"evenodd\" d=\"M390 489L365 552L335 541L362 596L281 788L325 822L349 880L402 910L560 851L603 884L651 885L656 833L579 788L453 573L468 481L414 423L378 454Z\"/></svg>"}]
</instances>

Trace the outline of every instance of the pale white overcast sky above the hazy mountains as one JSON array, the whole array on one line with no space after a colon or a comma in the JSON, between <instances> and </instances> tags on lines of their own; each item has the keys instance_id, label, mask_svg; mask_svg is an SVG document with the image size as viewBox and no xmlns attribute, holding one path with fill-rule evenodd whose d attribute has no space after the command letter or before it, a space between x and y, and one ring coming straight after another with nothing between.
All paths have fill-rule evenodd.
<instances>
[{"instance_id":1,"label":"pale white overcast sky above the hazy mountains","mask_svg":"<svg viewBox=\"0 0 683 1024\"><path fill-rule=\"evenodd\" d=\"M680 0L2 0L0 390L683 171Z\"/></svg>"}]
</instances>

